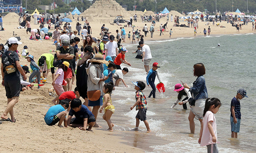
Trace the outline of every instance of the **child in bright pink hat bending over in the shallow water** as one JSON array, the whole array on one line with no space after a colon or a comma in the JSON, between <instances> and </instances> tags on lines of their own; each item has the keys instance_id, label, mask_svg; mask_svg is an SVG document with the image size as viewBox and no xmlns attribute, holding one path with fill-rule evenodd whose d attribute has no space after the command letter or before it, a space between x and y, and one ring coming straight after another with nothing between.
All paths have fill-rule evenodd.
<instances>
[{"instance_id":1,"label":"child in bright pink hat bending over in the shallow water","mask_svg":"<svg viewBox=\"0 0 256 153\"><path fill-rule=\"evenodd\" d=\"M174 104L172 105L171 108L174 108L177 105L177 103L179 103L179 105L183 105L183 109L186 110L187 109L186 103L189 102L189 98L192 98L192 96L189 92L189 89L184 88L180 83L178 83L175 85L174 91L176 91L178 93L178 96L177 96L176 102L174 102ZM186 96L186 98L184 98L181 101L183 96Z\"/></svg>"}]
</instances>

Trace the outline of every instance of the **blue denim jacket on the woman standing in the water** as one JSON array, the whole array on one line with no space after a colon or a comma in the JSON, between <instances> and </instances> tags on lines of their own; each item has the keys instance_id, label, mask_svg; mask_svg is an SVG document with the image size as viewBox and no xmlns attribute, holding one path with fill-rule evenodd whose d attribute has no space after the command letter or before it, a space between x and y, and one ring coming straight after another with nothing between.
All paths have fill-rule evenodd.
<instances>
[{"instance_id":1,"label":"blue denim jacket on the woman standing in the water","mask_svg":"<svg viewBox=\"0 0 256 153\"><path fill-rule=\"evenodd\" d=\"M193 82L193 87L190 87L189 91L193 93L194 99L207 99L208 93L205 85L204 76L200 76L196 78L195 82Z\"/></svg>"}]
</instances>

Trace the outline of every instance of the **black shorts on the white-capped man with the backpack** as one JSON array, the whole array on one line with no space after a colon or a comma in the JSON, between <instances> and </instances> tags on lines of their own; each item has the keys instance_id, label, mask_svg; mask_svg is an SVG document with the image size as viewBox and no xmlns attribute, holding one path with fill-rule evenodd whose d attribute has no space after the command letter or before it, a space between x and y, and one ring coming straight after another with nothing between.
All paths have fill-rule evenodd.
<instances>
[{"instance_id":1,"label":"black shorts on the white-capped man with the backpack","mask_svg":"<svg viewBox=\"0 0 256 153\"><path fill-rule=\"evenodd\" d=\"M4 87L6 89L7 98L20 96L20 80L4 81Z\"/></svg>"}]
</instances>

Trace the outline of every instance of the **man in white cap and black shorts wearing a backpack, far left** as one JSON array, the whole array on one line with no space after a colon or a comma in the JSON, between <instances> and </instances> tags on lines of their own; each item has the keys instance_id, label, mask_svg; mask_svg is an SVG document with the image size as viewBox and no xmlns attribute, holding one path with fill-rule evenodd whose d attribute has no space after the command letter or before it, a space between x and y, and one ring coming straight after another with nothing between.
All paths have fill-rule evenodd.
<instances>
[{"instance_id":1,"label":"man in white cap and black shorts wearing a backpack, far left","mask_svg":"<svg viewBox=\"0 0 256 153\"><path fill-rule=\"evenodd\" d=\"M16 51L18 45L22 44L22 42L19 42L17 38L12 37L7 40L9 50L4 52L2 55L2 64L1 64L1 74L2 74L2 85L5 87L6 90L6 96L7 96L7 107L6 110L3 112L1 119L9 121L9 122L15 122L15 117L13 113L13 107L14 105L19 101L20 96L20 74L23 76L23 79L26 80L26 75L20 66L20 59L18 57L18 54ZM3 68L3 59L7 56L12 56L15 60L15 66L16 71L12 72L10 74L7 74L4 72ZM10 113L11 119L8 118L7 114Z\"/></svg>"}]
</instances>

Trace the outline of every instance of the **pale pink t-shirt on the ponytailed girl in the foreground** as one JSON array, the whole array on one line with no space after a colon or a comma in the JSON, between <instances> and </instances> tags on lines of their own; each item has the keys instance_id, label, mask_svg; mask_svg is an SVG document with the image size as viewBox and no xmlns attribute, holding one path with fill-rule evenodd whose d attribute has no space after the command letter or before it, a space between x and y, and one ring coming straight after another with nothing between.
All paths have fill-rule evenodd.
<instances>
[{"instance_id":1,"label":"pale pink t-shirt on the ponytailed girl in the foreground","mask_svg":"<svg viewBox=\"0 0 256 153\"><path fill-rule=\"evenodd\" d=\"M201 139L201 146L206 146L208 144L215 144L214 142L212 142L212 135L209 132L209 128L208 128L209 121L212 121L212 129L213 129L214 135L216 136L216 139L218 140L215 116L211 111L207 111L203 119L204 128L203 128L203 134Z\"/></svg>"}]
</instances>

